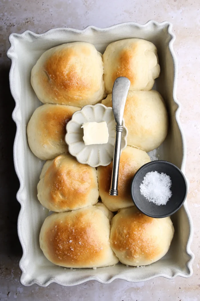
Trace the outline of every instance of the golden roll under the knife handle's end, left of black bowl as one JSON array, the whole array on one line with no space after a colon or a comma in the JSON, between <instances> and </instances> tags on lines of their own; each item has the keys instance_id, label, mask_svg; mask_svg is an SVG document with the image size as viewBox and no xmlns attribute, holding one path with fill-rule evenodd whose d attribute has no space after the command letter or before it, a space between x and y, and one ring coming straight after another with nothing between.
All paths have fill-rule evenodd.
<instances>
[{"instance_id":1,"label":"golden roll under the knife handle's end, left of black bowl","mask_svg":"<svg viewBox=\"0 0 200 301\"><path fill-rule=\"evenodd\" d=\"M150 162L150 157L145 151L127 146L121 153L119 164L118 196L109 195L112 162L108 166L99 166L97 177L101 200L111 211L133 206L130 196L130 184L136 171L145 163Z\"/></svg>"}]
</instances>

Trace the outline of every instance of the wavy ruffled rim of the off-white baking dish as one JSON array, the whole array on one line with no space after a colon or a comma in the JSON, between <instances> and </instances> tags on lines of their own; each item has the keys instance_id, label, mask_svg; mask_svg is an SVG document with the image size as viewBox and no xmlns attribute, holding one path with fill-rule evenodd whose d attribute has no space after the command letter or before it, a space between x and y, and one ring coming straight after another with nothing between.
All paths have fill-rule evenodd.
<instances>
[{"instance_id":1,"label":"wavy ruffled rim of the off-white baking dish","mask_svg":"<svg viewBox=\"0 0 200 301\"><path fill-rule=\"evenodd\" d=\"M38 284L42 287L45 287L45 286L49 285L50 283L55 282L55 283L58 283L60 285L70 286L70 285L81 284L81 283L83 283L85 281L89 281L89 280L96 280L100 283L105 283L106 284L106 283L112 282L115 279L123 279L123 280L129 281L129 282L139 282L139 281L149 280L149 279L152 279L152 278L158 277L158 276L162 276L162 277L165 277L165 278L168 278L168 279L173 279L177 276L182 276L182 277L188 278L193 273L192 262L194 260L194 254L190 250L190 246L191 246L191 243L192 243L192 237L193 237L193 222L192 222L192 218L191 218L191 215L190 215L190 212L189 212L189 209L188 209L188 206L187 206L187 201L186 201L183 206L184 206L184 209L186 211L189 226L190 226L190 234L189 234L189 237L188 237L187 247L186 247L186 252L187 252L188 256L190 257L190 260L187 262L187 268L188 268L189 273L184 274L184 272L181 272L181 273L180 272L175 272L173 275L169 275L169 274L165 274L165 273L154 275L154 273L152 273L151 276L143 278L142 280L140 279L138 281L134 280L132 278L129 278L127 276L123 276L121 274L112 276L112 277L108 278L106 281L103 281L103 279L100 276L95 276L95 277L91 276L91 277L86 277L86 278L80 278L79 280L77 280L76 282L71 283L71 284L70 283L64 284L63 281L57 281L56 277L55 278L50 278L50 279L48 278L48 279L46 279L46 281L43 281L43 282L40 282L37 279L33 279L29 283L24 281L25 274L26 274L25 258L26 258L26 255L27 255L28 251L27 251L27 247L25 246L25 243L23 241L22 233L21 233L21 230L20 230L20 225L21 225L21 222L22 222L22 219L23 219L23 216L24 216L26 201L25 201L25 193L24 193L25 185L24 185L24 181L23 181L23 178L22 178L22 175L21 175L21 172L20 172L20 168L19 168L19 164L18 164L18 160L17 160L17 156L16 156L17 147L18 147L19 138L20 138L19 133L21 131L21 124L20 124L20 99L19 99L19 96L17 95L17 93L15 92L15 90L13 88L13 80L12 80L13 75L14 75L15 70L16 70L16 66L17 66L17 57L16 57L16 54L15 54L15 47L14 47L13 40L15 38L28 39L28 37L30 37L30 36L31 36L31 38L34 38L34 39L37 39L37 37L45 38L46 36L57 33L58 31L73 32L73 33L79 33L79 34L83 34L83 33L87 32L89 30L98 31L98 32L106 32L106 31L109 31L111 29L115 29L117 27L128 26L128 25L137 27L139 29L143 29L143 28L145 28L147 26L150 26L152 24L154 26L166 26L167 30L168 30L168 34L172 37L172 39L169 42L169 49L170 49L170 52L172 54L172 59L173 59L173 63L174 63L173 99L174 99L174 102L178 106L178 108L176 110L176 113L175 113L175 119L176 119L176 122L178 124L179 129L180 129L181 138L182 138L183 159L182 159L182 164L181 164L181 170L182 170L182 172L184 172L185 171L185 165L186 165L186 140L185 140L185 137L184 137L183 129L182 129L182 126L181 126L181 123L180 123L180 118L179 118L180 112L181 112L181 104L176 98L177 73L178 73L177 68L178 67L177 67L177 59L175 57L175 53L174 53L174 50L173 50L173 43L175 41L175 35L172 33L172 23L170 23L168 21L158 23L154 20L150 20L147 23L141 25L141 24L138 24L138 23L135 23L135 22L124 22L124 23L119 23L119 24L116 24L116 25L113 25L113 26L110 26L110 27L106 27L106 28L98 28L98 27L95 27L95 26L87 26L85 29L82 29L82 30L72 29L72 28L54 28L54 29L49 29L48 31L46 31L45 33L42 33L42 34L37 34L37 33L31 32L29 30L26 30L22 34L12 33L9 36L9 42L10 42L11 46L7 51L7 57L10 58L10 60L12 62L11 63L11 68L10 68L10 74L9 74L10 90L11 90L11 94L12 94L12 96L13 96L15 102L16 102L16 106L15 106L15 108L13 110L13 113L12 113L13 121L16 123L16 135L15 135L15 140L14 140L14 144L13 144L13 157L14 157L15 171L16 171L16 174L19 178L19 183L20 183L20 187L19 187L19 190L16 194L16 198L17 198L17 200L19 201L19 203L21 205L21 209L20 209L19 216L18 216L18 236L19 236L19 240L20 240L20 243L22 245L22 250L23 250L23 255L22 255L22 258L19 262L19 267L22 270L22 275L21 275L20 281L23 285Z\"/></svg>"}]
</instances>

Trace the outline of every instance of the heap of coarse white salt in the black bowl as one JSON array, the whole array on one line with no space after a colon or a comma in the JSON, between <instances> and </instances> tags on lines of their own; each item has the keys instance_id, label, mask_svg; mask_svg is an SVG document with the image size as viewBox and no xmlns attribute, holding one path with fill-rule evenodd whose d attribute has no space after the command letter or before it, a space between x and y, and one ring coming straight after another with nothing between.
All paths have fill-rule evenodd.
<instances>
[{"instance_id":1,"label":"heap of coarse white salt in the black bowl","mask_svg":"<svg viewBox=\"0 0 200 301\"><path fill-rule=\"evenodd\" d=\"M164 172L148 172L140 184L140 193L146 197L149 202L156 205L166 205L172 196L170 187L172 181L169 175Z\"/></svg>"}]
</instances>

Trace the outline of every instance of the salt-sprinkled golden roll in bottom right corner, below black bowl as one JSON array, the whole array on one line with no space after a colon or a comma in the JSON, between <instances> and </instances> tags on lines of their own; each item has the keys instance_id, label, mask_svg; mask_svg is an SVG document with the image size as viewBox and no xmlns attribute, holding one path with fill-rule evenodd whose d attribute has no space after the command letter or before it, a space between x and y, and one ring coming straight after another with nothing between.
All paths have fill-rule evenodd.
<instances>
[{"instance_id":1,"label":"salt-sprinkled golden roll in bottom right corner, below black bowl","mask_svg":"<svg viewBox=\"0 0 200 301\"><path fill-rule=\"evenodd\" d=\"M170 217L153 219L136 207L120 209L111 224L110 244L120 262L148 265L169 250L174 235Z\"/></svg>"}]
</instances>

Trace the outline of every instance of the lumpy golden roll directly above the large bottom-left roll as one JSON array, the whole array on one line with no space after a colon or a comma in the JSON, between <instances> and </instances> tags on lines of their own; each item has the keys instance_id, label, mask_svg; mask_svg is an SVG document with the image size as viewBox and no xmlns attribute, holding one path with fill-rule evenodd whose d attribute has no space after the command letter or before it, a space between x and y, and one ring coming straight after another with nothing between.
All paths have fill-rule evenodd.
<instances>
[{"instance_id":1,"label":"lumpy golden roll directly above the large bottom-left roll","mask_svg":"<svg viewBox=\"0 0 200 301\"><path fill-rule=\"evenodd\" d=\"M44 164L37 193L40 203L55 212L94 205L99 197L96 169L70 154L60 155Z\"/></svg>"}]
</instances>

